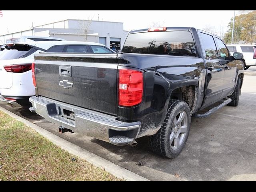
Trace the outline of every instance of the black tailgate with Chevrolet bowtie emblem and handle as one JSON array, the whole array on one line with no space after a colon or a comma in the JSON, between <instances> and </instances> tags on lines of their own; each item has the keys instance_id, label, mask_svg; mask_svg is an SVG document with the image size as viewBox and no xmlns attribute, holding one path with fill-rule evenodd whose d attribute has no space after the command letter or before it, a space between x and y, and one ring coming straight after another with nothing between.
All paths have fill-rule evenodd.
<instances>
[{"instance_id":1,"label":"black tailgate with Chevrolet bowtie emblem and handle","mask_svg":"<svg viewBox=\"0 0 256 192\"><path fill-rule=\"evenodd\" d=\"M39 96L117 114L116 54L35 55Z\"/></svg>"}]
</instances>

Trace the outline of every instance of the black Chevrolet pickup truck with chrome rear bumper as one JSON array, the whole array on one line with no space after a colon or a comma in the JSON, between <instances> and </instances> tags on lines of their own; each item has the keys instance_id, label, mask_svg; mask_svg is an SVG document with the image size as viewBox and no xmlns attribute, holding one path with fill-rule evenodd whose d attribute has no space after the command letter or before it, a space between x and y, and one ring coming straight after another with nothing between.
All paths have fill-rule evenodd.
<instances>
[{"instance_id":1,"label":"black Chevrolet pickup truck with chrome rear bumper","mask_svg":"<svg viewBox=\"0 0 256 192\"><path fill-rule=\"evenodd\" d=\"M60 132L114 145L135 146L148 136L153 152L174 158L186 144L192 114L203 118L238 105L242 59L218 36L195 28L132 30L117 54L35 55L30 110Z\"/></svg>"}]
</instances>

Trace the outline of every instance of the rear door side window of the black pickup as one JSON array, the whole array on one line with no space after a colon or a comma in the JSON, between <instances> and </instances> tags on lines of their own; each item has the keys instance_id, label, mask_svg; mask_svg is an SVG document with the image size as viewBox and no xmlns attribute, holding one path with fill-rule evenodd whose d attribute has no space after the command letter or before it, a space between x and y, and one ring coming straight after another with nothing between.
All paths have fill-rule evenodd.
<instances>
[{"instance_id":1,"label":"rear door side window of the black pickup","mask_svg":"<svg viewBox=\"0 0 256 192\"><path fill-rule=\"evenodd\" d=\"M217 48L214 43L213 36L201 33L202 43L204 45L204 51L206 57L211 59L218 59Z\"/></svg>"}]
</instances>

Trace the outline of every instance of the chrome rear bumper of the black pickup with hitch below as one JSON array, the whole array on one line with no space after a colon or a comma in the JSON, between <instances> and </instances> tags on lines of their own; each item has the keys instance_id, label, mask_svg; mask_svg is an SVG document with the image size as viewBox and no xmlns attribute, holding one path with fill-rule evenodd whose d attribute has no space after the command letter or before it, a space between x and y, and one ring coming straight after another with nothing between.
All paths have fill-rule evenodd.
<instances>
[{"instance_id":1,"label":"chrome rear bumper of the black pickup with hitch below","mask_svg":"<svg viewBox=\"0 0 256 192\"><path fill-rule=\"evenodd\" d=\"M110 142L115 145L128 145L138 135L141 122L122 122L116 117L87 110L44 97L32 96L32 112L46 120L86 136ZM74 113L67 116L64 111Z\"/></svg>"}]
</instances>

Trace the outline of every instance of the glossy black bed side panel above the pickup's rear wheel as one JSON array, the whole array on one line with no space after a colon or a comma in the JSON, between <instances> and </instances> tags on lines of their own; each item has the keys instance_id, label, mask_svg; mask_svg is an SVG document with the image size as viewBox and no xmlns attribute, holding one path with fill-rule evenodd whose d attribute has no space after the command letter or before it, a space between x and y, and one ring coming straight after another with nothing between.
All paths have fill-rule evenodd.
<instances>
[{"instance_id":1,"label":"glossy black bed side panel above the pickup's rear wheel","mask_svg":"<svg viewBox=\"0 0 256 192\"><path fill-rule=\"evenodd\" d=\"M145 72L143 102L132 108L118 106L117 112L119 120L142 122L138 137L154 134L161 127L174 89L194 85L197 95L194 110L202 104L206 74L202 58L124 53L118 54L118 67Z\"/></svg>"}]
</instances>

